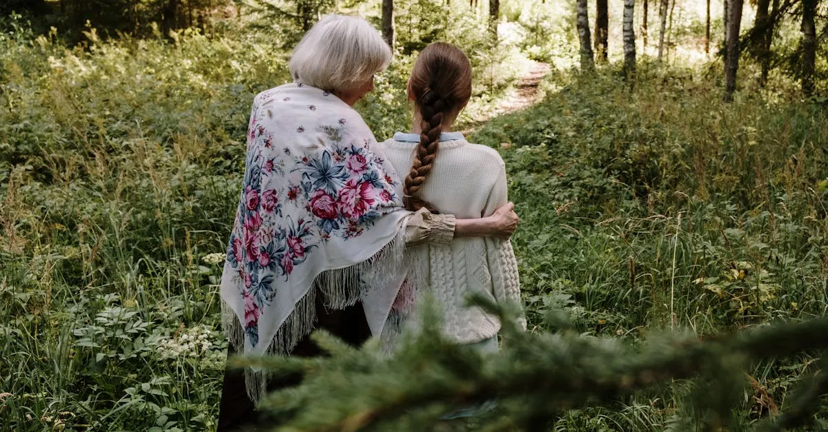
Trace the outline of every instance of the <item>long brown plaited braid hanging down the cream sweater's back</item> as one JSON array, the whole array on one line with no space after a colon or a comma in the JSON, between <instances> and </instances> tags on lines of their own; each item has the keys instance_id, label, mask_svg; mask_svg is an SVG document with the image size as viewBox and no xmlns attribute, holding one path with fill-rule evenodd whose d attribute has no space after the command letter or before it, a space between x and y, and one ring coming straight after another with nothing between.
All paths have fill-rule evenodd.
<instances>
[{"instance_id":1,"label":"long brown plaited braid hanging down the cream sweater's back","mask_svg":"<svg viewBox=\"0 0 828 432\"><path fill-rule=\"evenodd\" d=\"M440 132L443 130L445 101L426 87L419 100L419 106L422 117L420 144L416 147L412 168L408 171L406 177L405 195L402 198L402 204L408 210L416 211L425 207L431 213L436 214L438 212L434 206L420 197L420 190L437 157L437 148L440 146Z\"/></svg>"}]
</instances>

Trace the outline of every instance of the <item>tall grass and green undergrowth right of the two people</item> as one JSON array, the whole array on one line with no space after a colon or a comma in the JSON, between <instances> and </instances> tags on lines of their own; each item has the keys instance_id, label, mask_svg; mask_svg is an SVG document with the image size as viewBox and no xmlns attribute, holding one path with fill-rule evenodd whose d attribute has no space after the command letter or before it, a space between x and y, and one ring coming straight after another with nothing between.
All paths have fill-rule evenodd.
<instances>
[{"instance_id":1,"label":"tall grass and green undergrowth right of the two people","mask_svg":"<svg viewBox=\"0 0 828 432\"><path fill-rule=\"evenodd\" d=\"M701 71L646 63L630 93L611 69L553 74L543 103L471 137L506 161L534 329L549 330L542 316L556 308L585 335L630 343L825 314L825 108L760 92L724 104ZM734 427L785 406L815 355L754 365ZM680 427L691 388L573 411L556 427Z\"/></svg>"}]
</instances>

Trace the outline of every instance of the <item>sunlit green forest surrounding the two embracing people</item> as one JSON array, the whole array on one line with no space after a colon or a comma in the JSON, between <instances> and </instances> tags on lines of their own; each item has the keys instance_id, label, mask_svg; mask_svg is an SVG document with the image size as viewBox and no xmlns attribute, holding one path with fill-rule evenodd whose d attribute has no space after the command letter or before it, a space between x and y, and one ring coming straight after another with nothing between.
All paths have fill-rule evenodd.
<instances>
[{"instance_id":1,"label":"sunlit green forest surrounding the two embracing people","mask_svg":"<svg viewBox=\"0 0 828 432\"><path fill-rule=\"evenodd\" d=\"M528 329L318 332L259 361L306 375L274 430L828 430L825 0L2 0L0 430L216 429L251 103L332 12L392 47L380 141L423 48L469 56Z\"/></svg>"}]
</instances>

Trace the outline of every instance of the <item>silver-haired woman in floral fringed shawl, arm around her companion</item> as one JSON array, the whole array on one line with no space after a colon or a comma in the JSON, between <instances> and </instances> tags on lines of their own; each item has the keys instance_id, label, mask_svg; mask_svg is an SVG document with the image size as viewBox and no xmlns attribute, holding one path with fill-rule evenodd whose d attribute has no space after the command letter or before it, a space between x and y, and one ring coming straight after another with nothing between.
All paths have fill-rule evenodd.
<instances>
[{"instance_id":1,"label":"silver-haired woman in floral fringed shawl, arm around her companion","mask_svg":"<svg viewBox=\"0 0 828 432\"><path fill-rule=\"evenodd\" d=\"M330 15L308 31L290 62L292 84L258 94L248 128L238 212L221 280L229 353L317 355L308 335L325 328L354 345L370 336L363 300L383 303L405 274L406 245L455 237L508 238L512 205L488 218L411 212L402 182L351 108L373 89L391 51L357 17ZM387 314L390 304L372 305ZM219 430L255 424L267 391L262 371L225 373ZM246 387L246 391L245 391Z\"/></svg>"}]
</instances>

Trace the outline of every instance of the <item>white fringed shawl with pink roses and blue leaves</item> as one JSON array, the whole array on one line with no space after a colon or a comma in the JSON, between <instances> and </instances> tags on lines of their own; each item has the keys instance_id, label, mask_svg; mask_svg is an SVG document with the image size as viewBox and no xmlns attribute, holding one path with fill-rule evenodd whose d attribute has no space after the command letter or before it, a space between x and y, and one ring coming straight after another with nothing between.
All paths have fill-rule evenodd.
<instances>
[{"instance_id":1,"label":"white fringed shawl with pink roses and blue leaves","mask_svg":"<svg viewBox=\"0 0 828 432\"><path fill-rule=\"evenodd\" d=\"M397 179L335 95L286 84L256 96L221 279L224 329L240 353L290 353L313 329L317 295L341 309L393 285L410 214ZM264 379L247 377L255 401Z\"/></svg>"}]
</instances>

